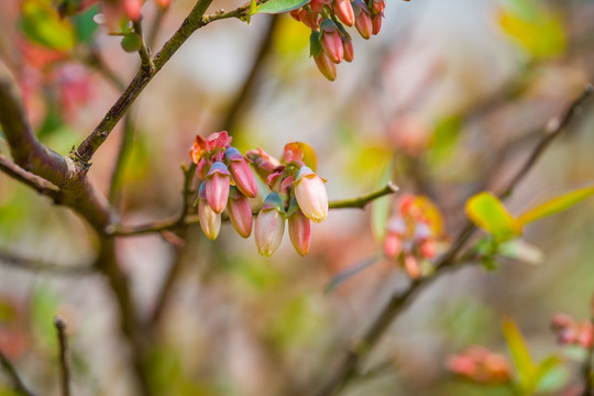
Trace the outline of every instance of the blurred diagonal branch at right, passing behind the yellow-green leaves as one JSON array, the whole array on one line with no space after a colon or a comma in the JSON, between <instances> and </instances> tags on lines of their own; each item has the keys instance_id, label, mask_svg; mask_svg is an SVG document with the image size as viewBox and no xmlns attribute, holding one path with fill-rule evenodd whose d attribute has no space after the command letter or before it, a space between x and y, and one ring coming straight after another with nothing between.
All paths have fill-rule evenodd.
<instances>
[{"instance_id":1,"label":"blurred diagonal branch at right, passing behind the yellow-green leaves","mask_svg":"<svg viewBox=\"0 0 594 396\"><path fill-rule=\"evenodd\" d=\"M569 107L569 110L563 113L560 119L553 119L557 121L549 122L546 128L546 134L537 143L530 155L519 168L519 170L512 178L512 182L503 189L502 197L509 196L515 187L520 183L524 176L537 163L538 158L543 154L549 144L558 138L562 130L569 125L574 119L574 116L585 100L593 94L591 85L587 85L582 95L576 98ZM331 396L337 395L351 380L353 380L359 373L360 365L364 358L366 358L382 339L386 330L394 322L394 320L403 312L415 299L415 296L433 280L439 278L449 268L457 267L460 263L458 258L460 252L472 238L476 227L468 222L466 226L460 231L454 242L440 258L436 262L436 272L432 276L415 280L404 292L395 293L391 296L386 305L381 309L377 317L372 321L367 331L352 348L349 348L346 355L342 359L338 369L332 372L329 380L316 394L317 396Z\"/></svg>"}]
</instances>

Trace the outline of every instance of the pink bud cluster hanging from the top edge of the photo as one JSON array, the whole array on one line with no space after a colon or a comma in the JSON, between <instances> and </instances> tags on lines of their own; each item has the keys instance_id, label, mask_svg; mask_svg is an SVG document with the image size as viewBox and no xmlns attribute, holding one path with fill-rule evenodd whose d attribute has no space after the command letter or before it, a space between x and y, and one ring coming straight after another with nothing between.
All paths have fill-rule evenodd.
<instances>
[{"instance_id":1,"label":"pink bud cluster hanging from the top edge of the photo","mask_svg":"<svg viewBox=\"0 0 594 396\"><path fill-rule=\"evenodd\" d=\"M310 52L321 74L333 81L337 64L353 61L353 43L346 26L355 26L369 40L380 33L385 0L311 0L290 15L311 29Z\"/></svg>"}]
</instances>

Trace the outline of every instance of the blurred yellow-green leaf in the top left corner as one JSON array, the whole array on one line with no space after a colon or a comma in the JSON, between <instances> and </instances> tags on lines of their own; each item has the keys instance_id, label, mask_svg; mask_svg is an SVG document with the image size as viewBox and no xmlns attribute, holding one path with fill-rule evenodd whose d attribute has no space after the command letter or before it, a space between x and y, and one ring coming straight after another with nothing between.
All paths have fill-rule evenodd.
<instances>
[{"instance_id":1,"label":"blurred yellow-green leaf in the top left corner","mask_svg":"<svg viewBox=\"0 0 594 396\"><path fill-rule=\"evenodd\" d=\"M21 30L34 43L58 51L70 50L75 29L45 0L24 0L21 4Z\"/></svg>"}]
</instances>

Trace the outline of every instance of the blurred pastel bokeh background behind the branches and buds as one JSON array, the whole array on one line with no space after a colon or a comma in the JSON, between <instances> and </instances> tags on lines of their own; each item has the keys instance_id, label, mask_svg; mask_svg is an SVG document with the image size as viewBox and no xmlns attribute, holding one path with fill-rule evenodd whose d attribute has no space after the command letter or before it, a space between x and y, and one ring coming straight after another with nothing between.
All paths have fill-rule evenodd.
<instances>
[{"instance_id":1,"label":"blurred pastel bokeh background behind the branches and buds","mask_svg":"<svg viewBox=\"0 0 594 396\"><path fill-rule=\"evenodd\" d=\"M193 4L173 2L156 47ZM211 11L240 4L215 0ZM21 7L0 2L0 56L21 84L38 138L67 154L119 96L86 64L86 46L124 81L138 55L99 28L54 58L23 31ZM146 21L155 10L147 1ZM587 0L387 0L382 32L364 41L353 31L354 61L339 65L330 82L309 58L309 30L282 15L229 132L242 152L260 146L279 156L287 142L307 142L330 199L371 191L387 178L429 197L443 216L447 248L464 222L465 200L503 186L547 122L593 80L593 19ZM224 20L199 30L142 92L122 180L124 223L179 210L180 164L189 162L196 134L224 124L270 21L255 15L250 25ZM593 113L586 106L507 200L513 213L592 182ZM89 174L101 191L121 133L119 125L92 161ZM1 139L0 153L9 153ZM271 258L260 257L253 238L241 239L229 224L215 242L190 228L183 249L158 234L118 239L142 317L150 317L170 267L179 270L152 330L158 336L150 369L156 394L314 394L387 296L408 283L384 260L324 292L341 271L381 251L389 207L387 198L365 210L331 211L315 224L305 258L287 235ZM495 272L468 266L433 283L365 362L370 375L343 394L513 395L509 387L458 378L444 365L471 344L508 354L505 317L518 323L536 360L561 356L562 369L543 394L580 384L584 353L557 345L549 321L557 311L590 315L593 213L591 199L529 226L524 240L542 251L538 265L502 260ZM0 174L0 251L81 266L96 248L72 211ZM44 395L58 394L55 315L68 323L75 393L132 395L129 351L101 275L31 271L0 260L0 349ZM12 395L2 375L0 395Z\"/></svg>"}]
</instances>

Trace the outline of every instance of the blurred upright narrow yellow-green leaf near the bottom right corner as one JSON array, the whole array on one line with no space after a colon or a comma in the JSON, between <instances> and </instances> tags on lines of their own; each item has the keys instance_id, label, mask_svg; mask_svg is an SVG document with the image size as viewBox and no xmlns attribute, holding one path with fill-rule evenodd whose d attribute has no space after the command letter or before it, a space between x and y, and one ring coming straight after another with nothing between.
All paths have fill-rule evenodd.
<instances>
[{"instance_id":1,"label":"blurred upright narrow yellow-green leaf near the bottom right corner","mask_svg":"<svg viewBox=\"0 0 594 396\"><path fill-rule=\"evenodd\" d=\"M535 380L538 375L538 367L532 362L524 337L513 319L507 318L504 320L503 332L507 341L507 348L512 352L512 360L518 373L519 384L527 395L531 395L536 386Z\"/></svg>"}]
</instances>

